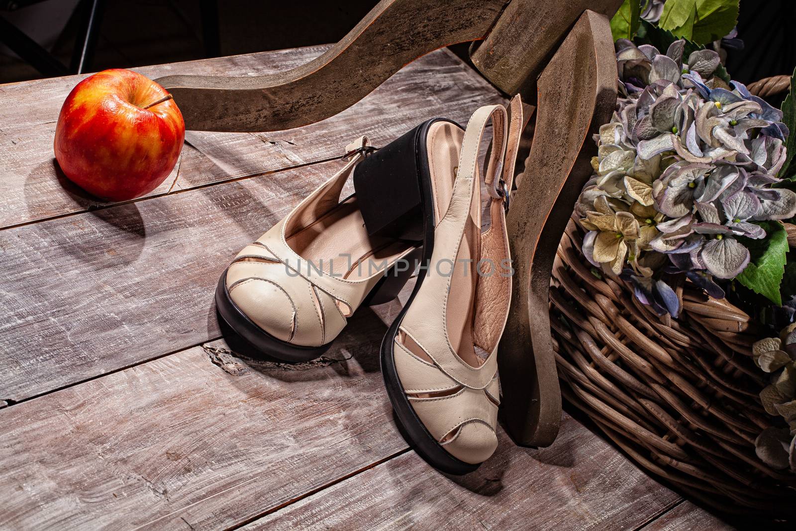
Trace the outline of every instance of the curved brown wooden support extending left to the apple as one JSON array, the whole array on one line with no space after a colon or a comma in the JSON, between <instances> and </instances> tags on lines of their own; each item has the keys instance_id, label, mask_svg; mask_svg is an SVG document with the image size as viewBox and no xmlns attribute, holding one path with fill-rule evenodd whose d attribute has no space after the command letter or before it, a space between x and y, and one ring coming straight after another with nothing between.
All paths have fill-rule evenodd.
<instances>
[{"instance_id":1,"label":"curved brown wooden support extending left to the apple","mask_svg":"<svg viewBox=\"0 0 796 531\"><path fill-rule=\"evenodd\" d=\"M282 131L345 110L404 64L484 38L507 0L381 0L322 56L267 76L165 76L185 127Z\"/></svg>"}]
</instances>

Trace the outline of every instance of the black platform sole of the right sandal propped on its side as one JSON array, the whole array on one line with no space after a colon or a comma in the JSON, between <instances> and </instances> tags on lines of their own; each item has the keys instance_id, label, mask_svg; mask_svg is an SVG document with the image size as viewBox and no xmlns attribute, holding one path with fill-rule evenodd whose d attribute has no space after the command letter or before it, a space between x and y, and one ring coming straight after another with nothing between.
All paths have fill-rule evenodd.
<instances>
[{"instance_id":1,"label":"black platform sole of the right sandal propped on its side","mask_svg":"<svg viewBox=\"0 0 796 531\"><path fill-rule=\"evenodd\" d=\"M426 137L431 124L439 121L450 120L428 120L413 130L415 132L414 138L408 138L408 135L404 135L399 140L396 140L396 142L403 140L406 143L411 143L412 151L414 151L416 156L420 201L423 207L422 263L425 264L426 267L422 269L418 275L415 288L412 290L412 295L409 295L409 299L404 305L404 308L400 311L395 321L392 322L392 325L387 330L387 334L384 335L384 340L381 342L380 361L381 374L384 377L384 386L387 388L387 396L395 411L396 421L400 423L399 428L403 428L400 430L401 435L404 436L407 443L426 461L426 463L430 464L431 467L435 467L447 474L462 475L476 470L478 465L465 463L460 459L456 459L436 441L431 433L428 432L423 422L415 413L414 408L412 408L412 404L409 403L409 399L404 392L404 387L400 384L400 378L398 377L395 365L395 356L392 349L400 323L404 320L404 315L409 309L409 306L412 305L412 301L415 299L420 286L423 284L423 279L426 277L428 266L431 262L431 253L434 249L434 198L431 188L431 174L428 169ZM458 124L456 125L458 126ZM409 150L407 149L404 151Z\"/></svg>"}]
</instances>

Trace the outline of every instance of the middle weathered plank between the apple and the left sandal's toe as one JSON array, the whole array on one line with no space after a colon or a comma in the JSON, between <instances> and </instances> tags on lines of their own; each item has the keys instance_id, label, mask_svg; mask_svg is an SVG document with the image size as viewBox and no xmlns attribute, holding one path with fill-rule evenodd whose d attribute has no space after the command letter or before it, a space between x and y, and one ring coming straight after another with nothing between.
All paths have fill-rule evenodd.
<instances>
[{"instance_id":1,"label":"middle weathered plank between the apple and the left sandal's toe","mask_svg":"<svg viewBox=\"0 0 796 531\"><path fill-rule=\"evenodd\" d=\"M0 399L217 337L213 291L224 267L342 165L0 231Z\"/></svg>"}]
</instances>

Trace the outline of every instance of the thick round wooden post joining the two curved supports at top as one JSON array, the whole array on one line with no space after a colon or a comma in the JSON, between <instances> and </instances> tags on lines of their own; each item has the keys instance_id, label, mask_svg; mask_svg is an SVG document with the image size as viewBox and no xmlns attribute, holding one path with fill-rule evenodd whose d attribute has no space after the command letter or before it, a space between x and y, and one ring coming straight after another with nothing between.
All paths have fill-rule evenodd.
<instances>
[{"instance_id":1,"label":"thick round wooden post joining the two curved supports at top","mask_svg":"<svg viewBox=\"0 0 796 531\"><path fill-rule=\"evenodd\" d=\"M512 0L470 59L506 94L533 101L537 76L584 10L611 18L622 0Z\"/></svg>"}]
</instances>

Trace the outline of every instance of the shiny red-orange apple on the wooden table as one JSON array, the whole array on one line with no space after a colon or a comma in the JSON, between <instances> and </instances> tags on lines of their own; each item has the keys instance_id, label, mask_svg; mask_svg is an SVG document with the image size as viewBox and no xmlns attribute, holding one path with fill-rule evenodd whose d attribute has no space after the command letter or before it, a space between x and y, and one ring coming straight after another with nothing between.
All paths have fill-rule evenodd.
<instances>
[{"instance_id":1,"label":"shiny red-orange apple on the wooden table","mask_svg":"<svg viewBox=\"0 0 796 531\"><path fill-rule=\"evenodd\" d=\"M55 158L80 188L111 201L140 197L174 169L185 122L165 88L114 68L72 88L60 108Z\"/></svg>"}]
</instances>

